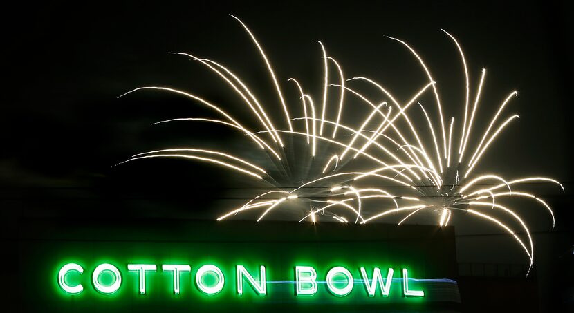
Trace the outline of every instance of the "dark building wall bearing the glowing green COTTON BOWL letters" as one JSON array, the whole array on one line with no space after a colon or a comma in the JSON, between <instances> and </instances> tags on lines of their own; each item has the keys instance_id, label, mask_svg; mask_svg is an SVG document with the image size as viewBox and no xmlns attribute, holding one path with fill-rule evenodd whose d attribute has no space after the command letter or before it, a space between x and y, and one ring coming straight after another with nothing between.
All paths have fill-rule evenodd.
<instances>
[{"instance_id":1,"label":"dark building wall bearing the glowing green COTTON BOWL letters","mask_svg":"<svg viewBox=\"0 0 574 313\"><path fill-rule=\"evenodd\" d=\"M186 222L158 231L150 225L68 223L50 240L30 240L19 284L35 301L24 309L354 312L460 301L456 254L447 244L454 240L437 237L443 233L436 229L423 227L420 236L407 229L396 240L380 227Z\"/></svg>"}]
</instances>

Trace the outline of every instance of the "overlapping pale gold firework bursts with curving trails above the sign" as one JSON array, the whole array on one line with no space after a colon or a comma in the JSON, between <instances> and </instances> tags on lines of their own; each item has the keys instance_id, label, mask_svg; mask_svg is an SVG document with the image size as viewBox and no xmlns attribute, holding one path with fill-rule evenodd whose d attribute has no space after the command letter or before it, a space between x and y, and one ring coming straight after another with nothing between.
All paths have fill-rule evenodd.
<instances>
[{"instance_id":1,"label":"overlapping pale gold firework bursts with curving trails above the sign","mask_svg":"<svg viewBox=\"0 0 574 313\"><path fill-rule=\"evenodd\" d=\"M428 79L428 83L418 91L414 91L413 95L407 98L407 102L401 104L387 88L384 88L373 79L362 76L344 79L340 64L333 57L327 55L324 44L322 41L318 41L321 47L322 68L324 70L321 84L322 100L321 102L315 102L313 95L306 93L303 86L296 79L288 79L288 82L293 81L297 87L297 93L302 104L301 111L304 114L304 117L291 117L286 97L281 91L281 86L279 86L279 79L275 75L275 70L273 70L259 41L240 19L233 15L231 17L237 19L241 24L263 59L268 75L271 78L272 86L275 89L274 93L277 93L279 98L277 104L280 105L281 110L274 110L269 106L269 103L263 106L252 89L235 75L232 70L220 63L210 59L200 59L189 53L173 54L190 57L221 77L223 79L222 86L231 88L241 98L244 105L242 104L238 107L248 111L252 115L252 120L260 125L262 129L251 131L244 125L251 125L252 121L240 121L224 111L221 106L216 106L192 93L179 91L174 88L140 87L120 95L120 97L141 90L167 91L183 95L194 102L207 106L212 112L219 115L221 120L212 117L188 117L163 120L154 124L190 121L230 127L234 131L247 135L246 138L250 141L250 144L257 144L257 146L249 146L246 152L251 153L250 155L257 153L267 155L268 162L261 162L261 158L254 158L253 156L251 156L253 159L246 159L240 158L241 155L239 154L232 155L223 151L180 147L138 153L119 164L147 158L185 158L217 164L223 169L246 174L270 184L271 187L267 191L254 196L242 206L219 216L217 220L231 218L237 216L237 214L254 213L254 211L262 209L263 212L257 218L259 222L271 216L272 212L296 208L302 216L299 222L305 220L311 222L328 220L347 223L349 220L344 216L335 214L335 210L343 209L347 212L346 214L351 212L355 216L355 222L360 222L360 224L406 214L405 216L398 216L398 225L402 225L405 221L414 218L414 216L419 216L420 212L424 211L427 214L432 214L431 220L433 223L436 222L443 227L449 225L450 222L456 222L458 214L471 215L501 227L501 229L515 238L528 256L530 261L528 270L530 271L533 267L535 247L530 236L530 230L526 225L526 220L518 212L512 211L507 205L503 205L502 202L505 199L519 197L534 199L549 212L552 218L552 227L554 228L555 214L547 202L534 193L513 191L512 187L518 184L553 183L558 184L562 192L564 192L564 187L553 178L540 176L507 180L499 173L471 175L473 171L479 168L481 158L492 149L492 144L499 138L502 131L506 129L510 122L519 118L518 115L510 115L510 117L506 117L506 120L502 120L503 117L501 117L504 108L506 108L512 97L517 96L517 92L513 91L506 97L479 138L480 140L476 140L478 144L474 145L472 131L476 132L478 127L476 124L479 116L478 108L485 79L485 69L482 70L471 109L470 79L467 62L461 45L454 36L442 30L452 39L459 51L465 77L465 109L463 115L457 119L457 122L460 121L459 123L461 124L461 129L457 133L454 133L456 128L454 126L455 117L450 117L448 128L445 126L438 85L434 82L425 61L405 41L393 37L389 37L389 39L398 41L416 57L418 64L420 64ZM335 73L338 74L338 79L336 80L339 81L339 84L329 83L331 81L328 68L330 61L332 62L331 65L334 65L336 68ZM353 81L367 82L368 86L371 86L378 94L377 98L373 97L373 100L371 100L369 99L370 97L366 96L366 93L359 93L346 86L346 82ZM328 99L329 87L336 87L340 90L338 101ZM423 122L411 122L408 108L414 102L417 102L417 99L431 87L436 100L437 110L434 113L427 112L425 107L418 103L423 111L425 120ZM310 90L312 89L310 88ZM348 108L347 103L350 102L349 97L344 97L347 92L353 95L353 99L356 97L360 102L367 104L367 113L358 113L359 111L343 113L344 106ZM388 105L387 101L389 102ZM337 105L333 110L328 109L331 102ZM321 105L320 112L315 109L315 103ZM387 110L382 110L382 106L387 106ZM274 115L277 114L269 115L266 110L273 113L279 111L279 115L284 115L288 129L279 126L284 123L277 123L277 120L274 119ZM333 111L332 115L335 116L329 116L331 111ZM349 110L346 109L346 111ZM354 108L352 111L355 111ZM360 118L356 118L358 114L361 114ZM438 115L438 122L433 118L436 115ZM349 117L353 116L355 118L351 122ZM503 122L499 122L500 120ZM402 131L399 123L406 123L407 130ZM434 124L438 123L440 123L440 129L435 131ZM372 126L371 124L376 125ZM371 126L373 127L372 129ZM391 131L386 133L389 128ZM324 132L326 133L324 134ZM267 134L259 135L261 133ZM199 131L195 131L194 134L202 135ZM432 137L430 150L427 151L419 134L429 134ZM456 137L457 135L459 137ZM302 148L297 146L297 149L304 149L304 155L306 155L303 164L297 164L298 160L295 157L286 158L285 156L287 152L291 155L299 153L299 150L297 150L297 153L294 151L295 144L300 142L304 142L304 144ZM459 142L458 150L456 149L457 142ZM456 158L456 152L458 152L459 162L451 162L451 158ZM349 153L354 153L353 158L348 157L347 154ZM308 155L311 156L309 157ZM270 166L275 166L277 171L272 171L273 168L269 168ZM301 166L304 167L303 173L295 173L290 170ZM282 175L281 178L277 177L276 179L273 177L277 173ZM379 181L385 182L389 188L395 188L396 190L389 192L391 189L387 189L387 187L385 187L387 190L376 188L381 186L375 186L373 183ZM492 181L495 183L493 184ZM503 187L506 187L508 191L501 190ZM281 195L277 196L275 193L281 193ZM373 201L377 203L387 201L387 203L382 206L376 206L372 204ZM391 201L393 202L392 204ZM289 202L289 205L286 205L287 202ZM349 202L353 204L356 202L357 207L353 207ZM322 203L322 207L316 207L317 203ZM378 209L373 211L373 207L378 207ZM497 209L508 215L506 218L510 218L513 223L518 223L524 229L524 236L518 236L510 226L503 220L499 220L498 217L494 218L478 209L484 207ZM451 218L452 216L454 220ZM528 239L529 247L523 240L525 236Z\"/></svg>"}]
</instances>

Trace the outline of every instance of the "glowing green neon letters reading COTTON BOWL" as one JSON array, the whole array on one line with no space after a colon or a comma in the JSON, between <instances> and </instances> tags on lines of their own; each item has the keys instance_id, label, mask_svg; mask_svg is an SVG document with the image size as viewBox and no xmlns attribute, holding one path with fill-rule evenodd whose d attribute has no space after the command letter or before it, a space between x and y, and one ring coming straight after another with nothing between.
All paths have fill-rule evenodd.
<instances>
[{"instance_id":1,"label":"glowing green neon letters reading COTTON BOWL","mask_svg":"<svg viewBox=\"0 0 574 313\"><path fill-rule=\"evenodd\" d=\"M129 272L135 272L138 276L138 290L136 290L138 294L142 296L146 295L146 276L156 272L157 268L158 266L155 264L127 264L125 269ZM192 272L192 267L190 265L162 264L161 269L163 272L170 272L172 274L174 282L172 291L175 295L179 295L181 274L183 272ZM108 283L104 283L100 279L100 277L106 272L108 275L112 276L111 281ZM84 268L82 265L77 263L67 263L60 267L57 272L57 283L59 287L63 292L66 292L71 296L80 294L84 291L84 285L78 282L81 281L79 278L76 278L75 283L71 283L66 279L68 274L71 275L73 273L82 275L84 273ZM268 282L266 267L264 265L259 267L259 278L254 278L243 265L237 265L235 273L235 292L237 292L239 296L243 295L243 285L246 283L258 295L265 296L267 294ZM403 268L401 278L402 296L425 296L425 292L423 290L414 290L412 287L409 287L408 275L408 270ZM362 277L360 281L362 281L365 290L367 291L364 296L376 296L378 294L377 290L380 291L380 296L389 296L391 284L393 283L394 278L393 268L387 269L386 279L382 278L379 267L375 267L373 269L373 272L370 275L371 278L369 278L367 270L364 267L360 267L360 276ZM207 264L198 267L194 277L197 290L206 296L219 294L219 292L221 292L225 287L225 275L216 265ZM120 289L120 287L122 287L122 274L120 273L120 269L109 263L102 263L95 267L91 278L93 289L101 294L114 294ZM295 285L295 296L314 296L319 291L318 283L325 283L328 292L333 294L333 296L338 297L349 295L351 291L353 291L353 287L355 287L355 277L353 276L353 273L351 273L351 271L346 267L342 266L335 266L329 269L326 273L325 281L323 282L319 281L320 274L317 274L317 270L314 267L295 265L295 275L292 279L293 285Z\"/></svg>"}]
</instances>

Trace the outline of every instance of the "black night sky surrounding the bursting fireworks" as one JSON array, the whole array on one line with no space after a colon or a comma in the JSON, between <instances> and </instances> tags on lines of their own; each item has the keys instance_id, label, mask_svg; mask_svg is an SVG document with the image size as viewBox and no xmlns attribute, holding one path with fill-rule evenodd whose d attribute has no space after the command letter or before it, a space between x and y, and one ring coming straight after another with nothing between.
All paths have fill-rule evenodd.
<instances>
[{"instance_id":1,"label":"black night sky surrounding the bursting fireworks","mask_svg":"<svg viewBox=\"0 0 574 313\"><path fill-rule=\"evenodd\" d=\"M257 186L243 176L197 162L145 160L113 166L136 153L174 146L225 147L249 155L237 133L185 123L151 126L208 115L187 99L149 91L118 99L140 86L170 86L249 118L237 107L237 95L216 75L169 52L221 61L262 102L277 104L271 115L281 117L261 57L228 14L257 36L288 102L298 101L294 86L286 82L290 77L313 97L322 96L318 40L347 77L371 77L399 99L408 99L427 77L408 50L388 35L404 39L424 57L450 120L463 112L465 85L458 51L443 28L463 46L471 90L481 69L487 69L477 129L488 125L508 93L519 93L506 114L518 113L520 120L494 142L480 168L506 178L548 176L564 184L565 195L555 186L529 189L555 209L554 231L543 209L521 202L526 203L521 214L535 234L541 305L555 301L553 290L546 288L548 279L562 270L555 266L559 258L573 253L574 25L566 1L306 2L22 3L3 10L3 240L15 247L15 234L25 231L19 220L26 218L213 219L252 198ZM421 101L432 110L432 99ZM353 120L354 115L364 111L349 110L345 118ZM454 225L459 262L526 262L512 240L496 235L501 234L496 227L463 219ZM493 240L503 247L492 247Z\"/></svg>"}]
</instances>

